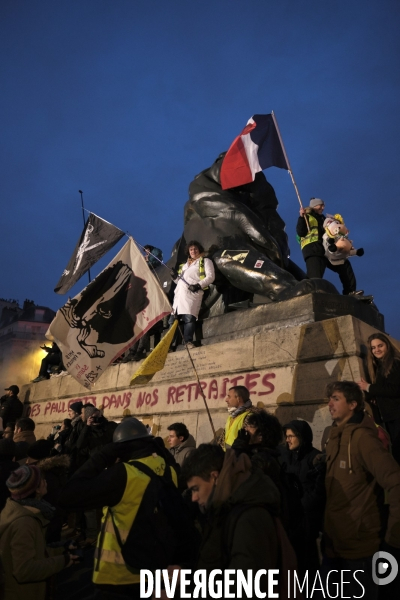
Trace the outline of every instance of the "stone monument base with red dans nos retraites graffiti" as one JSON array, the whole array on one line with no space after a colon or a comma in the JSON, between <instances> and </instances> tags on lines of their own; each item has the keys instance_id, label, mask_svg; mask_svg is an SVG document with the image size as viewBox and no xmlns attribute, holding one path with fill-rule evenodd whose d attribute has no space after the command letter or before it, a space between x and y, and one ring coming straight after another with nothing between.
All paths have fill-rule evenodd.
<instances>
[{"instance_id":1,"label":"stone monument base with red dans nos retraites graffiti","mask_svg":"<svg viewBox=\"0 0 400 600\"><path fill-rule=\"evenodd\" d=\"M358 313L343 314L346 311ZM339 313L339 315L335 314ZM215 429L224 427L225 396L245 385L253 404L274 412L280 422L306 419L318 447L331 424L325 387L331 381L365 376L368 336L383 328L383 317L354 298L310 294L213 317L203 324L204 345L191 350ZM20 398L36 422L36 437L47 437L77 400L91 402L110 420L137 416L165 437L173 422L184 422L197 443L213 434L187 351L168 355L165 368L147 385L130 387L140 363L110 366L89 393L70 375L22 388Z\"/></svg>"}]
</instances>

